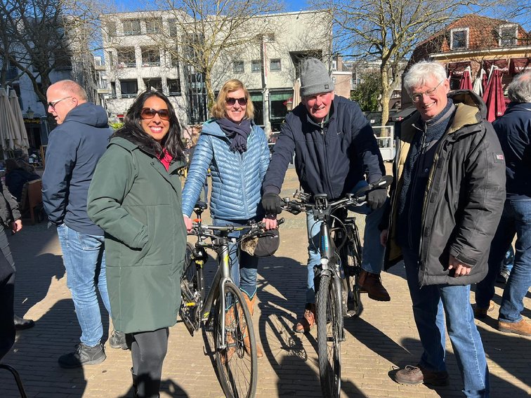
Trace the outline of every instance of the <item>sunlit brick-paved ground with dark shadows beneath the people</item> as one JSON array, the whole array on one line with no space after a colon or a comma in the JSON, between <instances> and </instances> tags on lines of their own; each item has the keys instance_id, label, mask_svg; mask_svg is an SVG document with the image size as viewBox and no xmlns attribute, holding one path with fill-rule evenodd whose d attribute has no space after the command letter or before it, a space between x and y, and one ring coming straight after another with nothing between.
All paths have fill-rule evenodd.
<instances>
[{"instance_id":1,"label":"sunlit brick-paved ground with dark shadows beneath the people","mask_svg":"<svg viewBox=\"0 0 531 398\"><path fill-rule=\"evenodd\" d=\"M296 186L293 170L283 194ZM257 397L320 397L317 376L316 333L299 335L291 327L303 309L306 269L306 230L303 215L286 216L282 245L273 258L261 260L258 281L260 303L254 314L257 336L265 357L258 361ZM3 362L21 373L29 397L132 397L128 351L106 345L107 360L84 369L60 369L57 358L79 338L74 306L55 230L44 224L25 225L11 238L18 267L15 310L35 319L33 329L18 333ZM213 261L209 262L212 270ZM397 366L415 364L421 353L412 318L403 267L383 274L390 303L362 296L365 311L346 321L342 345L343 397L461 397L461 380L452 347L447 345L452 385L435 390L424 385L406 387L391 380ZM528 397L531 394L531 339L506 335L495 329L501 288L496 288L492 317L476 321L483 337L491 371L492 397ZM531 317L531 295L525 298L524 316ZM105 322L107 328L108 322ZM107 338L107 336L105 336ZM223 397L202 333L191 337L183 324L171 329L169 354L164 362L161 397ZM0 397L17 397L13 381L0 373Z\"/></svg>"}]
</instances>

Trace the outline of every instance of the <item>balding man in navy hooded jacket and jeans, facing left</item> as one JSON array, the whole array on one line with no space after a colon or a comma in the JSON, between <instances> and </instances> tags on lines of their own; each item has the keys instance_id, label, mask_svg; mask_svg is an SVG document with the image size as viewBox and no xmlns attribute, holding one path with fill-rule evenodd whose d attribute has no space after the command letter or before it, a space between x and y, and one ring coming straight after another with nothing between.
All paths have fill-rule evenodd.
<instances>
[{"instance_id":1,"label":"balding man in navy hooded jacket and jeans, facing left","mask_svg":"<svg viewBox=\"0 0 531 398\"><path fill-rule=\"evenodd\" d=\"M89 102L84 88L75 81L52 84L46 91L46 98L48 112L58 126L48 139L42 200L48 220L57 226L67 286L81 327L80 343L74 352L58 359L61 367L69 369L100 364L106 358L96 293L97 287L110 313L103 230L87 215L86 196L111 130L107 125L107 112Z\"/></svg>"}]
</instances>

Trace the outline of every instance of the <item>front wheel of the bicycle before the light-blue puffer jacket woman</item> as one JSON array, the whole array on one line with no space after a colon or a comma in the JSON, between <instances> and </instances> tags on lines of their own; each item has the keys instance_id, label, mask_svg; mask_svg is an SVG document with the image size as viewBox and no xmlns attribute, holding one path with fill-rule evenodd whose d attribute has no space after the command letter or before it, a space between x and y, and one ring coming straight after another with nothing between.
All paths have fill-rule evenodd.
<instances>
[{"instance_id":1,"label":"front wheel of the bicycle before the light-blue puffer jacket woman","mask_svg":"<svg viewBox=\"0 0 531 398\"><path fill-rule=\"evenodd\" d=\"M216 368L225 397L251 398L256 393L258 364L256 339L251 313L242 293L232 282L225 284L225 303L232 302L228 310L216 300L214 313L214 347ZM221 317L225 317L225 330L221 330ZM225 333L228 347L221 347L221 333ZM244 337L249 337L246 350ZM249 352L247 352L249 351Z\"/></svg>"}]
</instances>

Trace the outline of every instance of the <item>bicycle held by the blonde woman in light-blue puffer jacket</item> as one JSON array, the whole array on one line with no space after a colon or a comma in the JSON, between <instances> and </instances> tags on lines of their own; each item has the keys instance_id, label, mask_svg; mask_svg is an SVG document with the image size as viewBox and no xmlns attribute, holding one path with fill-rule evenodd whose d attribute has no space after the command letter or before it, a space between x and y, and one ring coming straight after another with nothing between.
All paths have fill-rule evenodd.
<instances>
[{"instance_id":1,"label":"bicycle held by the blonde woman in light-blue puffer jacket","mask_svg":"<svg viewBox=\"0 0 531 398\"><path fill-rule=\"evenodd\" d=\"M189 234L197 236L195 245L187 243L185 267L181 277L181 319L194 336L201 326L213 333L215 364L226 397L254 397L256 393L256 338L251 314L240 288L230 277L229 243L260 237L267 232L262 223L249 225L204 225L201 215L206 203L198 202ZM233 231L244 231L230 238ZM211 242L207 242L211 239ZM203 267L206 248L217 252L218 270L205 298ZM212 311L214 309L214 311ZM248 340L247 340L248 338Z\"/></svg>"}]
</instances>

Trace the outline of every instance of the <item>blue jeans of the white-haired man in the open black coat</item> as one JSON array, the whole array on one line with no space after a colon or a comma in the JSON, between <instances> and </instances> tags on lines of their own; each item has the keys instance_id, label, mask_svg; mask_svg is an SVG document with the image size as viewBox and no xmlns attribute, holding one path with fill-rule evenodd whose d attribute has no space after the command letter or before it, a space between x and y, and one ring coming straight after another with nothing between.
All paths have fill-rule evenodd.
<instances>
[{"instance_id":1,"label":"blue jeans of the white-haired man in the open black coat","mask_svg":"<svg viewBox=\"0 0 531 398\"><path fill-rule=\"evenodd\" d=\"M413 304L413 317L424 349L420 366L431 371L446 371L446 323L464 382L465 396L489 397L489 369L481 336L474 324L470 285L421 287L417 253L407 248L402 248L402 253Z\"/></svg>"}]
</instances>

